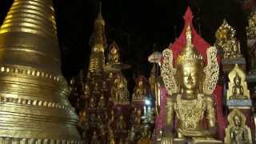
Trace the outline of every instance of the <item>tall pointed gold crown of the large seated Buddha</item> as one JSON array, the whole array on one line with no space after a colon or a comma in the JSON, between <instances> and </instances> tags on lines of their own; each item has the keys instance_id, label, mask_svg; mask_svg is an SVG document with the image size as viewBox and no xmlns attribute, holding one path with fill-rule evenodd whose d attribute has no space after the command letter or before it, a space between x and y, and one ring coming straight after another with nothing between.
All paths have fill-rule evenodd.
<instances>
[{"instance_id":1,"label":"tall pointed gold crown of the large seated Buddha","mask_svg":"<svg viewBox=\"0 0 256 144\"><path fill-rule=\"evenodd\" d=\"M192 34L190 26L186 28L186 46L181 54L178 55L176 66L184 64L202 64L202 56L194 49L192 44Z\"/></svg>"}]
</instances>

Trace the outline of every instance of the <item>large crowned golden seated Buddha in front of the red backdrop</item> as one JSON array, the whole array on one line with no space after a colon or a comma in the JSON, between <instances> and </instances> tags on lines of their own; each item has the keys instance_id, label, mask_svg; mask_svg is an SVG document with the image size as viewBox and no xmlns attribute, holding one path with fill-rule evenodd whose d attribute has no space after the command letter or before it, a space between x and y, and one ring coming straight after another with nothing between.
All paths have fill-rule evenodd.
<instances>
[{"instance_id":1,"label":"large crowned golden seated Buddha in front of the red backdrop","mask_svg":"<svg viewBox=\"0 0 256 144\"><path fill-rule=\"evenodd\" d=\"M162 143L170 144L175 140L174 138L215 141L214 135L217 132L215 102L212 95L204 94L202 84L206 73L203 70L203 59L191 43L191 37L188 26L186 46L178 54L175 62L177 72L174 75L174 82L178 90L166 98ZM165 82L164 77L166 76L163 76ZM172 132L173 130L175 132Z\"/></svg>"}]
</instances>

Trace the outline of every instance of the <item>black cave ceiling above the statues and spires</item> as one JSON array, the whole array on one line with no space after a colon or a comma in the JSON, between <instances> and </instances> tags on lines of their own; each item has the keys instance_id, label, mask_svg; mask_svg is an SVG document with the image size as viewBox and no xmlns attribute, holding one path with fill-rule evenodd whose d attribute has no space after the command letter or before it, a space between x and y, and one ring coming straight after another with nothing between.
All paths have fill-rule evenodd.
<instances>
[{"instance_id":1,"label":"black cave ceiling above the statues and spires","mask_svg":"<svg viewBox=\"0 0 256 144\"><path fill-rule=\"evenodd\" d=\"M0 23L12 2L0 1ZM98 3L99 0L54 0L62 71L66 77L78 74L89 62L88 42ZM241 3L234 0L102 0L108 44L116 41L121 47L122 61L133 66L131 71L147 75L150 73L147 56L174 42L175 35L182 30L182 15L187 6L194 12L194 26L198 29L200 24L202 38L207 42L214 43L214 32L226 18L245 48L246 14Z\"/></svg>"}]
</instances>

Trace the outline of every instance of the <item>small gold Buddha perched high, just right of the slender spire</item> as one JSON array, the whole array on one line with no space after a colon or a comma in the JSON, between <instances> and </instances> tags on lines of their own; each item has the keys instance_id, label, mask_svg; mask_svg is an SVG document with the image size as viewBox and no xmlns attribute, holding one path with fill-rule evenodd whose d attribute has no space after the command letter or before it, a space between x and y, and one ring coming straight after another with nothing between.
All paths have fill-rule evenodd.
<instances>
[{"instance_id":1,"label":"small gold Buddha perched high, just right of the slender spire","mask_svg":"<svg viewBox=\"0 0 256 144\"><path fill-rule=\"evenodd\" d=\"M106 63L109 65L120 63L119 48L115 42L113 42L110 45L109 53L107 54L107 62Z\"/></svg>"}]
</instances>

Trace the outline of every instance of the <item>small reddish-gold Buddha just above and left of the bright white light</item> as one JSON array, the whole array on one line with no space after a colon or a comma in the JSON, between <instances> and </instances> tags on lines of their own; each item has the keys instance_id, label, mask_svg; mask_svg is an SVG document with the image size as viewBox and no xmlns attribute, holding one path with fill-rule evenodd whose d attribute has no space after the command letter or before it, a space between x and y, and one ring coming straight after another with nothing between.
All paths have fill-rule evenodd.
<instances>
[{"instance_id":1,"label":"small reddish-gold Buddha just above and left of the bright white light","mask_svg":"<svg viewBox=\"0 0 256 144\"><path fill-rule=\"evenodd\" d=\"M134 94L132 95L133 101L143 100L146 96L146 82L144 77L137 78L136 86L134 88Z\"/></svg>"}]
</instances>

